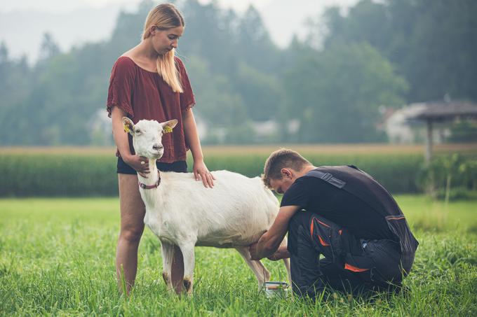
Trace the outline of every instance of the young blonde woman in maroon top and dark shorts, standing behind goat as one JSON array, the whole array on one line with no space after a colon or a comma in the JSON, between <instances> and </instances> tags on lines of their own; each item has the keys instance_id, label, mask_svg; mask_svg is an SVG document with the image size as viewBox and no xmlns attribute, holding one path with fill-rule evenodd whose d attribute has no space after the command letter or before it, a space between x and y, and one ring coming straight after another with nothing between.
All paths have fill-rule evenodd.
<instances>
[{"instance_id":1,"label":"young blonde woman in maroon top and dark shorts, standing behind goat","mask_svg":"<svg viewBox=\"0 0 477 317\"><path fill-rule=\"evenodd\" d=\"M184 32L184 18L170 3L163 3L147 15L142 41L125 52L113 66L109 82L107 110L112 118L114 141L118 148L117 172L121 208L121 232L116 249L116 276L126 292L137 272L137 248L144 230L145 205L137 185L137 173L149 173L147 158L135 155L131 137L123 131L121 118L179 122L173 132L164 134L164 155L157 162L161 171L186 172L186 152L194 157L194 176L213 187L213 176L203 162L201 143L192 113L194 94L182 61L175 57L177 41ZM175 248L172 281L182 291L184 264Z\"/></svg>"}]
</instances>

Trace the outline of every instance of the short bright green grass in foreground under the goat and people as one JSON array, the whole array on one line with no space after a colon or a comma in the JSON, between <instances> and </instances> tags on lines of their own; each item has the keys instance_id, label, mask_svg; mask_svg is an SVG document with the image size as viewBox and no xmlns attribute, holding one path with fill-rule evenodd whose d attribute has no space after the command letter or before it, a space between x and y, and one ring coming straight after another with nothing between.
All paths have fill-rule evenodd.
<instances>
[{"instance_id":1,"label":"short bright green grass in foreground under the goat and people","mask_svg":"<svg viewBox=\"0 0 477 317\"><path fill-rule=\"evenodd\" d=\"M420 242L406 295L335 295L316 303L267 299L233 250L196 248L194 297L170 296L159 241L140 244L133 295L116 291L117 198L0 199L0 315L476 316L477 202L398 196ZM273 280L280 262L265 260Z\"/></svg>"}]
</instances>

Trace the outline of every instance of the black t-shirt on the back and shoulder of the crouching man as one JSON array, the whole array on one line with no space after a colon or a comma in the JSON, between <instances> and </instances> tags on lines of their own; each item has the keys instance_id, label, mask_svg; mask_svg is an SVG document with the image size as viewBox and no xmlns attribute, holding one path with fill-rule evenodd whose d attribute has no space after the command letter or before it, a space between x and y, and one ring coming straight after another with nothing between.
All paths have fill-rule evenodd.
<instances>
[{"instance_id":1,"label":"black t-shirt on the back and shoulder of the crouching man","mask_svg":"<svg viewBox=\"0 0 477 317\"><path fill-rule=\"evenodd\" d=\"M384 216L346 190L313 176L297 178L281 206L300 206L346 227L358 239L395 239Z\"/></svg>"}]
</instances>

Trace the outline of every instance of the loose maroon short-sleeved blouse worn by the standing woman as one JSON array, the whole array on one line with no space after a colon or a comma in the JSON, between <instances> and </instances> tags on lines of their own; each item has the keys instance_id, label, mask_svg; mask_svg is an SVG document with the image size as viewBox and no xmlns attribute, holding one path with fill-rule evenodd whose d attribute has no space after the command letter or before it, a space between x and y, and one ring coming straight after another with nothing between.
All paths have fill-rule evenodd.
<instances>
[{"instance_id":1,"label":"loose maroon short-sleeved blouse worn by the standing woman","mask_svg":"<svg viewBox=\"0 0 477 317\"><path fill-rule=\"evenodd\" d=\"M133 59L119 57L114 63L107 97L107 111L111 118L113 106L118 106L128 113L134 123L141 119L164 122L177 119L172 133L164 134L162 143L164 155L160 162L184 161L187 157L187 146L182 126L182 113L195 104L194 93L182 61L175 57L179 69L180 81L184 92L173 92L173 89L162 79L159 73L147 71L137 66ZM129 134L129 148L134 152L133 138ZM116 156L120 156L116 150Z\"/></svg>"}]
</instances>

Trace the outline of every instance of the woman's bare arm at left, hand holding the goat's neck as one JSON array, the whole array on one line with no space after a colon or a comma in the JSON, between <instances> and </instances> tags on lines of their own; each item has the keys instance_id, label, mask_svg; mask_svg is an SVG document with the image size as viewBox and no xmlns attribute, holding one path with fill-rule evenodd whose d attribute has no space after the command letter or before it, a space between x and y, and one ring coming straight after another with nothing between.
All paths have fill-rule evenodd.
<instances>
[{"instance_id":1,"label":"woman's bare arm at left, hand holding the goat's neck","mask_svg":"<svg viewBox=\"0 0 477 317\"><path fill-rule=\"evenodd\" d=\"M142 177L147 176L145 174L149 173L149 164L147 157L140 157L137 155L132 155L129 149L128 134L124 132L123 127L123 117L126 117L126 111L123 111L117 106L113 106L111 111L111 118L113 124L113 137L114 143L118 147L119 154L126 164L130 167L133 167ZM144 163L142 163L144 162Z\"/></svg>"}]
</instances>

